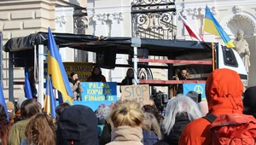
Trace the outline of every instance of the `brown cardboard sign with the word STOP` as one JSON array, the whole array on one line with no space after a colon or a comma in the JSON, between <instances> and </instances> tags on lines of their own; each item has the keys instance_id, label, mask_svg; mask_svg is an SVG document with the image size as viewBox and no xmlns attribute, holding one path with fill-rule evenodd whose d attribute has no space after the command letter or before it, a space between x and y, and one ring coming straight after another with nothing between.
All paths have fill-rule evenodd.
<instances>
[{"instance_id":1,"label":"brown cardboard sign with the word STOP","mask_svg":"<svg viewBox=\"0 0 256 145\"><path fill-rule=\"evenodd\" d=\"M136 100L142 105L149 104L149 86L148 84L122 85L121 100Z\"/></svg>"}]
</instances>

